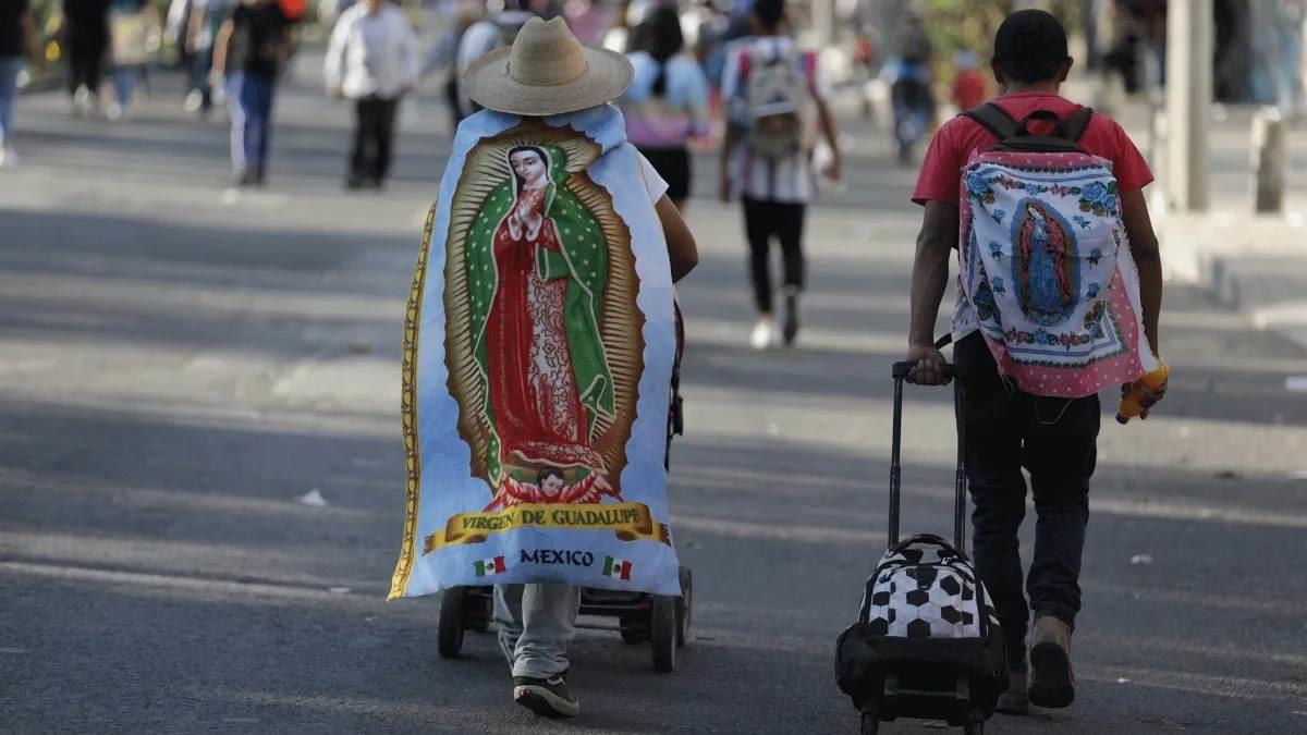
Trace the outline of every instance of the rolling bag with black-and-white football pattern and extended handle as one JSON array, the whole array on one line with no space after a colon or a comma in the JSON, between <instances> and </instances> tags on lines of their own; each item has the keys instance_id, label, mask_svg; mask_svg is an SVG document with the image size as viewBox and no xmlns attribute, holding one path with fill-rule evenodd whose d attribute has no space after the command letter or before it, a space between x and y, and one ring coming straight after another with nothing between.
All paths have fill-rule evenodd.
<instances>
[{"instance_id":1,"label":"rolling bag with black-and-white football pattern and extended handle","mask_svg":"<svg viewBox=\"0 0 1307 735\"><path fill-rule=\"evenodd\" d=\"M1008 662L997 616L966 556L966 388L961 371L946 366L958 434L953 543L931 534L899 540L903 382L912 366L893 370L889 548L867 579L857 620L836 642L835 680L861 714L864 735L899 717L942 719L979 735L1008 689Z\"/></svg>"}]
</instances>

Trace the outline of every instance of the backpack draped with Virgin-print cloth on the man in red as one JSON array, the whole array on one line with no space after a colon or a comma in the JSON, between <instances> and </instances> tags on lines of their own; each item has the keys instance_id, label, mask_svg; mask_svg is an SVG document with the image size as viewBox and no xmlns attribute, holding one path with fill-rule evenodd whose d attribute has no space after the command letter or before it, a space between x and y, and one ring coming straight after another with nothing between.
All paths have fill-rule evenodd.
<instances>
[{"instance_id":1,"label":"backpack draped with Virgin-print cloth on the man in red","mask_svg":"<svg viewBox=\"0 0 1307 735\"><path fill-rule=\"evenodd\" d=\"M962 292L999 371L1033 395L1084 398L1157 368L1111 162L1080 139L1093 111L1017 122L965 112L999 143L962 170ZM1056 123L1030 131L1031 120Z\"/></svg>"}]
</instances>

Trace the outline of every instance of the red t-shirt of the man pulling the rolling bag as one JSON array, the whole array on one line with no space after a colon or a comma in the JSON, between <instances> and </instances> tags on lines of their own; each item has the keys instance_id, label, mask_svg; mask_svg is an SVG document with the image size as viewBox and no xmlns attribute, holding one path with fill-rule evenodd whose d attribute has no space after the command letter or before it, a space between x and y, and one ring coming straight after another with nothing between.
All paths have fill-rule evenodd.
<instances>
[{"instance_id":1,"label":"red t-shirt of the man pulling the rolling bag","mask_svg":"<svg viewBox=\"0 0 1307 735\"><path fill-rule=\"evenodd\" d=\"M1017 120L1035 110L1048 110L1059 118L1065 118L1080 109L1080 105L1069 99L1044 92L1017 92L1005 94L995 102ZM1052 131L1053 123L1033 120L1031 128L1031 132L1047 133ZM995 143L997 139L971 118L958 115L945 123L935 135L931 148L925 152L925 160L921 161L921 173L912 191L912 201L957 204L962 197L962 167L975 153ZM1095 112L1090 118L1089 128L1080 139L1080 146L1086 153L1112 162L1112 174L1116 175L1116 183L1123 192L1141 190L1153 182L1153 171L1149 170L1140 149L1121 126L1106 115Z\"/></svg>"}]
</instances>

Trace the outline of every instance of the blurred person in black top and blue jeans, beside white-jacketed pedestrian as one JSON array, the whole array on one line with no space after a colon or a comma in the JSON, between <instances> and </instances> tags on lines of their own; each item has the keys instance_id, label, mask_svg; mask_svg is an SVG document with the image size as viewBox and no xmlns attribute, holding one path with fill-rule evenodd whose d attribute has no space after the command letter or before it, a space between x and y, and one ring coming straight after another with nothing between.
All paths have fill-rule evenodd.
<instances>
[{"instance_id":1,"label":"blurred person in black top and blue jeans, beside white-jacketed pedestrian","mask_svg":"<svg viewBox=\"0 0 1307 735\"><path fill-rule=\"evenodd\" d=\"M290 24L274 0L242 0L214 41L210 76L227 86L237 186L267 180L273 92L289 52Z\"/></svg>"}]
</instances>

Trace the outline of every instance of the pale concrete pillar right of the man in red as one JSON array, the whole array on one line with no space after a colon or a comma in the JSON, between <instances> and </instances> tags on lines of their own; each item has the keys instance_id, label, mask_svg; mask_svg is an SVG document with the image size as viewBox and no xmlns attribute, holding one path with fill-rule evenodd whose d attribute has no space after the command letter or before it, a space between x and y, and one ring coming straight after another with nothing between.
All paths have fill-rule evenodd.
<instances>
[{"instance_id":1,"label":"pale concrete pillar right of the man in red","mask_svg":"<svg viewBox=\"0 0 1307 735\"><path fill-rule=\"evenodd\" d=\"M1212 204L1212 0L1172 0L1166 18L1167 201L1204 212Z\"/></svg>"}]
</instances>

